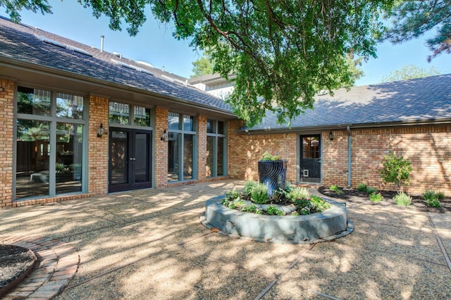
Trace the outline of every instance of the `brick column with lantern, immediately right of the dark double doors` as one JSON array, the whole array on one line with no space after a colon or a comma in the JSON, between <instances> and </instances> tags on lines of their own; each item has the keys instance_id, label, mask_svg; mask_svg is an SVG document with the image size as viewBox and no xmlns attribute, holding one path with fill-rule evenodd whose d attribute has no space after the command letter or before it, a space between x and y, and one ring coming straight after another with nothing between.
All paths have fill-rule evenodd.
<instances>
[{"instance_id":1,"label":"brick column with lantern, immediately right of the dark double doors","mask_svg":"<svg viewBox=\"0 0 451 300\"><path fill-rule=\"evenodd\" d=\"M161 141L161 134L168 132L168 109L155 108L155 187L168 185L168 140Z\"/></svg>"}]
</instances>

